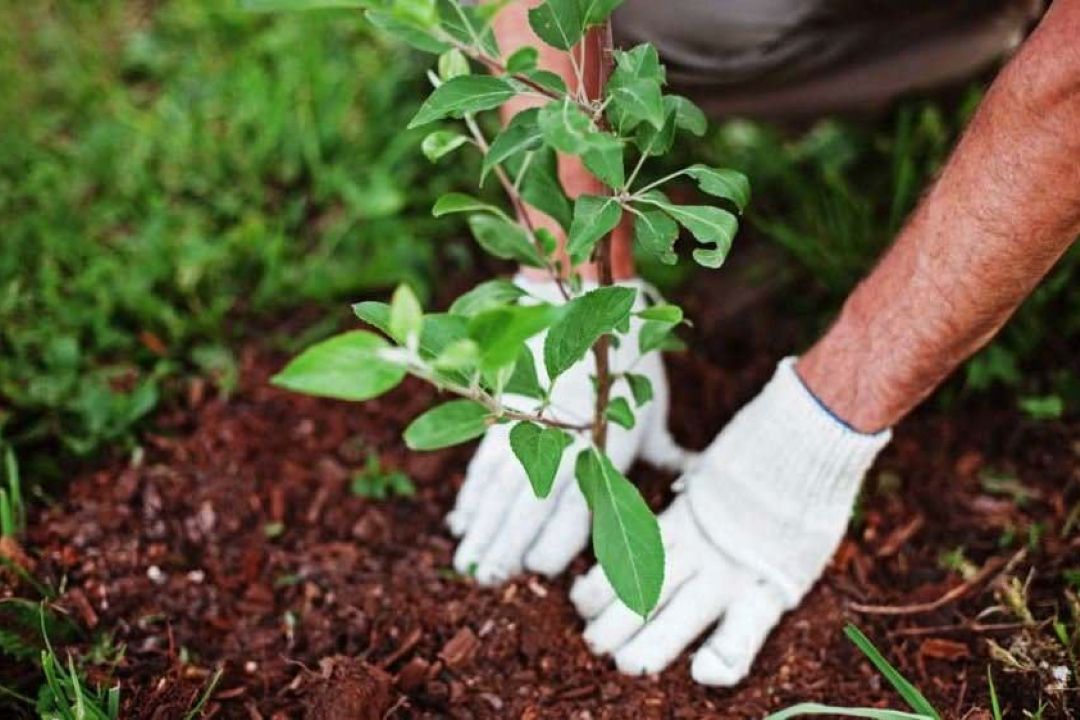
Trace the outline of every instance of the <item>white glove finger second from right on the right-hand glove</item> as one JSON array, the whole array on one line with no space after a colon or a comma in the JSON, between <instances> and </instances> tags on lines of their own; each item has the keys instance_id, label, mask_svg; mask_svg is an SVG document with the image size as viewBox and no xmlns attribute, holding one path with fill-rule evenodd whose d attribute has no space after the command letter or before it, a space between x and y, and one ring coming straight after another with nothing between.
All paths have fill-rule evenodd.
<instances>
[{"instance_id":1,"label":"white glove finger second from right on the right-hand glove","mask_svg":"<svg viewBox=\"0 0 1080 720\"><path fill-rule=\"evenodd\" d=\"M719 619L730 599L729 571L698 573L616 652L616 666L627 675L659 673Z\"/></svg>"}]
</instances>

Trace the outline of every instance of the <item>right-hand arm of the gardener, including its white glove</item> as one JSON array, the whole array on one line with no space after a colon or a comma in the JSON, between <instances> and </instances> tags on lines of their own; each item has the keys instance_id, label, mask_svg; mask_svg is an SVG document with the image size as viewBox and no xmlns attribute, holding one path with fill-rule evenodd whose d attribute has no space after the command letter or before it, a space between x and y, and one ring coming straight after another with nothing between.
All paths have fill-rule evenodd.
<instances>
[{"instance_id":1,"label":"right-hand arm of the gardener, including its white glove","mask_svg":"<svg viewBox=\"0 0 1080 720\"><path fill-rule=\"evenodd\" d=\"M995 81L935 187L836 325L783 361L660 518L648 622L599 568L571 592L585 640L654 673L717 620L699 682L734 684L836 549L888 427L1004 323L1080 233L1080 0L1057 0ZM827 408L827 409L826 409Z\"/></svg>"}]
</instances>

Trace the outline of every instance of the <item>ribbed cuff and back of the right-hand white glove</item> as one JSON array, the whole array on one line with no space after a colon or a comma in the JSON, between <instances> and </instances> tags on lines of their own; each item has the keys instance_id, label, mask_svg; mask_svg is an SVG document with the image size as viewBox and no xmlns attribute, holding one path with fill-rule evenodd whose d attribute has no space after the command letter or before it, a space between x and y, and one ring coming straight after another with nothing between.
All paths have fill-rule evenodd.
<instances>
[{"instance_id":1,"label":"ribbed cuff and back of the right-hand white glove","mask_svg":"<svg viewBox=\"0 0 1080 720\"><path fill-rule=\"evenodd\" d=\"M690 507L724 553L772 581L791 607L821 574L863 477L892 436L837 419L780 362L687 480Z\"/></svg>"}]
</instances>

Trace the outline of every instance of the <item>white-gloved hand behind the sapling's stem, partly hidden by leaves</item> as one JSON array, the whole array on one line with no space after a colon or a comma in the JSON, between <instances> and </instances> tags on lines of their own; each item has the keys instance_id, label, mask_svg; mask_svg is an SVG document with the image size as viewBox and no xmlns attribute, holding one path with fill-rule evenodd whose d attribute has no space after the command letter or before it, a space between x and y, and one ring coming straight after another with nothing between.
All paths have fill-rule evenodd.
<instances>
[{"instance_id":1,"label":"white-gloved hand behind the sapling's stem, partly hidden by leaves","mask_svg":"<svg viewBox=\"0 0 1080 720\"><path fill-rule=\"evenodd\" d=\"M552 282L522 276L514 282L535 298L552 303L563 301ZM620 284L644 287L640 281ZM636 309L644 307L639 300ZM680 470L689 453L676 446L667 432L667 380L659 352L645 356L638 353L640 324L639 320L632 318L630 334L620 336L619 347L611 350L611 369L647 377L652 384L653 399L637 411L633 429L609 425L608 454L623 472L638 457L660 467ZM546 385L543 335L532 338L528 345L540 381ZM595 403L590 376L595 373L595 362L590 353L584 362L559 376L548 416L576 424L590 422ZM631 397L624 379L617 380L611 389L612 397L620 395ZM514 395L507 395L504 404L527 412L535 411L539 405L534 398ZM575 458L584 447L583 440L576 439L563 453L551 493L539 500L510 449L509 434L509 425L495 425L481 440L469 463L457 504L446 518L450 532L462 539L454 555L454 568L474 574L485 585L503 582L523 569L557 574L589 541L589 507L573 478Z\"/></svg>"}]
</instances>

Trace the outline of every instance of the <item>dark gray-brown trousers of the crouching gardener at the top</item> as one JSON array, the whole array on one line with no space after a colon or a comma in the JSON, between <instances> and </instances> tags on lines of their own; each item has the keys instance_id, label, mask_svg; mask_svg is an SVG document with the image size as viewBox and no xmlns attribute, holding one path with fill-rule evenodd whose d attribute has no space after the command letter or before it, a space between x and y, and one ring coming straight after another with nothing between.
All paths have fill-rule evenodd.
<instances>
[{"instance_id":1,"label":"dark gray-brown trousers of the crouching gardener at the top","mask_svg":"<svg viewBox=\"0 0 1080 720\"><path fill-rule=\"evenodd\" d=\"M870 109L1015 47L1042 0L625 0L619 45L651 42L711 114Z\"/></svg>"}]
</instances>

